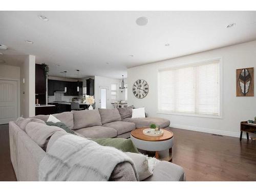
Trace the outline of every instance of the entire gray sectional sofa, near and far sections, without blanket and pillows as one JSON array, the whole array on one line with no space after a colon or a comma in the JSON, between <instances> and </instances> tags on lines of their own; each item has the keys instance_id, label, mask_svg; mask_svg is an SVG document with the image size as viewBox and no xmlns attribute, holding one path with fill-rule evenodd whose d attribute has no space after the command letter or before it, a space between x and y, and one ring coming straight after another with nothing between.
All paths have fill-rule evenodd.
<instances>
[{"instance_id":1,"label":"entire gray sectional sofa, near and far sections, without blanket and pillows","mask_svg":"<svg viewBox=\"0 0 256 192\"><path fill-rule=\"evenodd\" d=\"M64 112L54 116L78 135L90 138L129 138L131 131L136 127L147 126L148 123L156 120L147 118L148 121L144 119L144 124L138 123L138 120L129 122L130 120L125 121L125 118L122 119L118 114L117 110L84 110ZM48 115L37 115L33 119L25 119L24 123L9 122L11 161L18 181L38 181L38 167L46 156L46 151L26 133L25 126L29 122L47 121L48 117ZM43 121L36 123L44 123ZM160 119L158 121L161 122ZM169 125L168 120L162 122L166 126ZM125 180L125 176L122 179ZM160 161L155 166L153 175L144 181L184 181L184 170L173 163Z\"/></svg>"}]
</instances>

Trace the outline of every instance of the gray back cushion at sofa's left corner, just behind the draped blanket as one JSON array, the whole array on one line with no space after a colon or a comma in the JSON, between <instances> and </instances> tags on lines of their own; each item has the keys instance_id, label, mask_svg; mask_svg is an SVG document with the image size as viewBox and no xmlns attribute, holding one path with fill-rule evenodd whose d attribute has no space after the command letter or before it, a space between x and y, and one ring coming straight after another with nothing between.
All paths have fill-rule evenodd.
<instances>
[{"instance_id":1,"label":"gray back cushion at sofa's left corner, just behind the draped blanket","mask_svg":"<svg viewBox=\"0 0 256 192\"><path fill-rule=\"evenodd\" d=\"M42 123L30 122L26 126L26 133L35 141L43 150L46 150L50 137L55 132L65 132L57 126L48 126Z\"/></svg>"}]
</instances>

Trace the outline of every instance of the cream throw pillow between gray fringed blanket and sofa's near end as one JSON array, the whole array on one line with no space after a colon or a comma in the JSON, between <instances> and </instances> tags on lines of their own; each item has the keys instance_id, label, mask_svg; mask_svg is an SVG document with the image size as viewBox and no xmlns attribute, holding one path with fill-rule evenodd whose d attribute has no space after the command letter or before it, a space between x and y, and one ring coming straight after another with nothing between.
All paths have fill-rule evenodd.
<instances>
[{"instance_id":1,"label":"cream throw pillow between gray fringed blanket and sofa's near end","mask_svg":"<svg viewBox=\"0 0 256 192\"><path fill-rule=\"evenodd\" d=\"M147 156L130 152L125 154L133 160L139 181L143 181L153 175L152 168L148 166Z\"/></svg>"}]
</instances>

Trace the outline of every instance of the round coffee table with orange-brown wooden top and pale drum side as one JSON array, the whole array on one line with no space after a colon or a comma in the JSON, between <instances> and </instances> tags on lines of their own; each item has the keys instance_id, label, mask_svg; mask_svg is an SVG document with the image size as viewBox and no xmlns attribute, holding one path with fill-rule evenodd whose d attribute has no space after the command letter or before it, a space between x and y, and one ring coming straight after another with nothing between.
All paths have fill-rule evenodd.
<instances>
[{"instance_id":1,"label":"round coffee table with orange-brown wooden top and pale drum side","mask_svg":"<svg viewBox=\"0 0 256 192\"><path fill-rule=\"evenodd\" d=\"M174 134L168 130L163 130L161 136L147 136L143 134L143 130L148 127L138 128L131 132L131 140L135 146L141 150L156 152L155 157L159 159L159 152L169 150L172 153ZM172 157L168 161L172 160Z\"/></svg>"}]
</instances>

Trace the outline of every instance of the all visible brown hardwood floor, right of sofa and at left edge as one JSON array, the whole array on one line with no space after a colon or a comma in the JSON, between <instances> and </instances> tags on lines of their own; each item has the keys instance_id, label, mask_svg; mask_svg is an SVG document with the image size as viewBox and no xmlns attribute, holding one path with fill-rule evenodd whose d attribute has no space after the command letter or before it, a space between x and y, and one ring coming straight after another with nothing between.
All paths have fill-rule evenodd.
<instances>
[{"instance_id":1,"label":"all visible brown hardwood floor, right of sofa and at left edge","mask_svg":"<svg viewBox=\"0 0 256 192\"><path fill-rule=\"evenodd\" d=\"M256 181L256 142L170 128L173 163L187 181ZM16 181L10 159L8 124L0 125L0 181Z\"/></svg>"}]
</instances>

